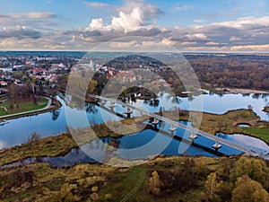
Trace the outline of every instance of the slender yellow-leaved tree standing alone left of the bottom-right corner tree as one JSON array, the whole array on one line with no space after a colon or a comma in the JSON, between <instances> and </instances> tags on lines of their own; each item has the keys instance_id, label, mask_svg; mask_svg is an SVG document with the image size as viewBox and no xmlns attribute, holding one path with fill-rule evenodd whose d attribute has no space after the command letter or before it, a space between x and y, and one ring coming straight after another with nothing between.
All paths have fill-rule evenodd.
<instances>
[{"instance_id":1,"label":"slender yellow-leaved tree standing alone left of the bottom-right corner tree","mask_svg":"<svg viewBox=\"0 0 269 202\"><path fill-rule=\"evenodd\" d=\"M217 201L219 196L216 194L217 191L223 186L223 181L217 181L217 173L212 172L207 176L207 180L204 182L204 192L207 199L210 201Z\"/></svg>"}]
</instances>

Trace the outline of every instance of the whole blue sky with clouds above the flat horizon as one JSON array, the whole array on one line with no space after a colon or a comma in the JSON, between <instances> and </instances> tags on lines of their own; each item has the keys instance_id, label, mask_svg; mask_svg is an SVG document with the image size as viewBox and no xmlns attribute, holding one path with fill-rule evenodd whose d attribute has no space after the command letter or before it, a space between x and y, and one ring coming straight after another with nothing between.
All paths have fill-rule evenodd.
<instances>
[{"instance_id":1,"label":"whole blue sky with clouds above the flat horizon","mask_svg":"<svg viewBox=\"0 0 269 202\"><path fill-rule=\"evenodd\" d=\"M0 0L0 4L1 50L91 50L109 43L105 46L112 49L269 52L268 0Z\"/></svg>"}]
</instances>

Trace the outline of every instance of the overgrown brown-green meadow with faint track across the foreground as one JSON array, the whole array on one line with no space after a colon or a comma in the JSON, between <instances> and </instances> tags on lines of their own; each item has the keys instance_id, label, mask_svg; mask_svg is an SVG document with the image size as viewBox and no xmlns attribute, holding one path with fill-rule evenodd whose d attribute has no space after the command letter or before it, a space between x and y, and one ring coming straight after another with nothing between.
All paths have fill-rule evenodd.
<instances>
[{"instance_id":1,"label":"overgrown brown-green meadow with faint track across the foreground","mask_svg":"<svg viewBox=\"0 0 269 202\"><path fill-rule=\"evenodd\" d=\"M261 177L268 167L263 160L246 157L158 157L135 167L118 168L82 163L68 169L53 169L48 163L33 163L21 167L0 168L0 200L7 201L206 201L204 181L212 172L224 185L216 194L230 201L237 171L233 164L250 162L244 168L258 164ZM234 171L233 171L234 170ZM152 173L158 179L151 181ZM236 173L236 172L235 172ZM240 176L240 175L239 175ZM262 181L262 180L261 180ZM159 185L158 185L159 184ZM266 181L263 183L267 187ZM152 186L160 190L152 193ZM206 197L206 195L205 195ZM263 200L265 201L265 200Z\"/></svg>"}]
</instances>

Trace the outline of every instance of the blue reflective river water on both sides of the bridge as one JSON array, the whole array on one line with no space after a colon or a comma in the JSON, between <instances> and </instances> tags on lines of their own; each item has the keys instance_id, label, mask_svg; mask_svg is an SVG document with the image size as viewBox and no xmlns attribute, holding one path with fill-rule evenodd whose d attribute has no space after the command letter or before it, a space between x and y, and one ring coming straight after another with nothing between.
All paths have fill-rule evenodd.
<instances>
[{"instance_id":1,"label":"blue reflective river water on both sides of the bridge","mask_svg":"<svg viewBox=\"0 0 269 202\"><path fill-rule=\"evenodd\" d=\"M169 96L168 93L161 92L160 98L156 101L137 100L135 102L130 101L130 103L135 104L135 107L139 107L143 110L148 110L150 112L157 112L160 110L160 108L162 108L163 110L171 110L174 107L178 107L182 110L203 110L205 112L217 114L225 113L227 110L247 109L247 106L251 105L253 110L258 116L261 117L261 119L268 120L269 114L262 111L265 105L268 103L268 99L269 96L266 94L203 94L195 96L191 100L189 100L188 98L178 98L177 100L175 100L171 96ZM96 123L103 123L111 120L121 119L118 118L115 114L110 113L108 110L103 110L99 106L94 104L87 104L87 106L82 107L81 109L72 109L68 106L65 106L64 101L62 101L61 99L59 99L59 101L61 101L63 104L63 106L59 110L20 119L11 119L8 120L7 123L5 123L3 126L0 126L0 149L13 145L21 145L22 143L27 142L32 132L39 133L41 137L55 136L56 134L64 133L67 126L65 118L66 111L68 116L72 116L73 121L71 125L74 128L86 127ZM201 101L203 101L202 106L199 105ZM126 109L121 106L116 106L115 110L119 113L124 113L126 111ZM86 121L87 124L81 121L83 112L85 112L86 114L88 120ZM134 111L133 116L140 116L140 113ZM187 122L183 123L188 124ZM163 131L168 131L169 124L164 124L161 129ZM182 137L184 133L185 131L183 129L178 128L175 135ZM145 145L146 143L150 142L152 138L156 136L156 134L156 131L146 129L130 136L123 136L117 139L118 150L115 151L115 154L128 159L146 158L148 155L154 154L154 152L152 152L154 151L154 148L148 149L148 153L143 151L141 154L136 153L135 155L129 155L122 151L124 149L130 149ZM226 136L225 138L229 138L231 141L235 141L243 145L251 145L253 147L258 147L261 150L269 151L268 145L255 137L234 135L228 137ZM90 145L85 146L91 146L92 153L102 154L102 148L108 143L108 141L109 138L98 139L92 141ZM161 154L180 154L180 152L178 153L178 147L180 144L182 144L180 140L162 134L162 136L158 136L158 139L156 141L157 145L154 146L158 146L158 144L161 145L163 142L168 142L169 144L166 148L163 149ZM195 139L195 145L191 145L190 147L188 147L187 151L184 154L217 156L213 152L213 144L214 142L212 140L199 136L199 138ZM229 146L223 145L220 149L220 153L230 155L239 154L240 151L233 149ZM74 153L74 151L71 151L71 154L67 155L74 156L74 154L80 153ZM58 158L65 159L64 156Z\"/></svg>"}]
</instances>

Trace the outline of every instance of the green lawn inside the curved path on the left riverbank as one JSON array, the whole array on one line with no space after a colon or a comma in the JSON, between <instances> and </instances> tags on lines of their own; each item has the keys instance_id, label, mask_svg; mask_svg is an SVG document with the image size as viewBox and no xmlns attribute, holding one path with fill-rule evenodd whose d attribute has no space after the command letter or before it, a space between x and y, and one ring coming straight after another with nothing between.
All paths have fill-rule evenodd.
<instances>
[{"instance_id":1,"label":"green lawn inside the curved path on the left riverbank","mask_svg":"<svg viewBox=\"0 0 269 202\"><path fill-rule=\"evenodd\" d=\"M11 101L4 101L0 104L0 116L21 113L30 110L41 110L48 104L48 99L40 98L35 104L33 101L22 101L20 103L12 103Z\"/></svg>"}]
</instances>

